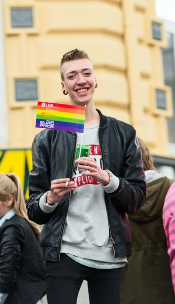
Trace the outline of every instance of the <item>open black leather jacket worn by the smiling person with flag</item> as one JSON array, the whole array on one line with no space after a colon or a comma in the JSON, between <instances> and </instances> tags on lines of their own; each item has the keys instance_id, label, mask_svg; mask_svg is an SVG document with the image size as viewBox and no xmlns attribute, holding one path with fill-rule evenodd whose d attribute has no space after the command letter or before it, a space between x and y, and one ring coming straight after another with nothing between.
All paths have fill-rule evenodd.
<instances>
[{"instance_id":1,"label":"open black leather jacket worn by the smiling person with flag","mask_svg":"<svg viewBox=\"0 0 175 304\"><path fill-rule=\"evenodd\" d=\"M137 212L146 196L141 150L132 126L98 112L101 116L99 140L104 169L120 179L114 193L105 193L111 241L115 257L129 256L131 240L126 212ZM46 260L59 260L70 193L51 213L40 209L39 199L50 190L52 180L72 178L75 146L75 133L56 130L41 131L32 144L33 169L29 175L27 209L32 221L46 224L40 239Z\"/></svg>"}]
</instances>

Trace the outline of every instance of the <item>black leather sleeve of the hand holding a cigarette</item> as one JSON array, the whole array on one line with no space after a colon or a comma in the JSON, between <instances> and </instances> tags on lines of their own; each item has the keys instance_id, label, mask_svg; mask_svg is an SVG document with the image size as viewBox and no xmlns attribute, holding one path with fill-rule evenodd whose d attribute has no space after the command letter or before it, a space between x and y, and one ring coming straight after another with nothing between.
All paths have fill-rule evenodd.
<instances>
[{"instance_id":1,"label":"black leather sleeve of the hand holding a cigarette","mask_svg":"<svg viewBox=\"0 0 175 304\"><path fill-rule=\"evenodd\" d=\"M26 204L30 220L37 224L46 224L52 217L52 212L44 212L39 206L40 198L50 191L49 156L45 146L36 135L32 143L33 168L29 174L29 199ZM55 209L54 209L55 210Z\"/></svg>"}]
</instances>

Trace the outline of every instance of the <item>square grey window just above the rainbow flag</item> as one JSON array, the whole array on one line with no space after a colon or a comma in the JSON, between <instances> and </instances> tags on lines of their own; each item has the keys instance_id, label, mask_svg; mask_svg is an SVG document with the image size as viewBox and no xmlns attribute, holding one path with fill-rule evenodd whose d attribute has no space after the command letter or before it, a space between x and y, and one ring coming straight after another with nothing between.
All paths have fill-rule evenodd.
<instances>
[{"instance_id":1,"label":"square grey window just above the rainbow flag","mask_svg":"<svg viewBox=\"0 0 175 304\"><path fill-rule=\"evenodd\" d=\"M15 80L16 101L37 100L36 80Z\"/></svg>"}]
</instances>

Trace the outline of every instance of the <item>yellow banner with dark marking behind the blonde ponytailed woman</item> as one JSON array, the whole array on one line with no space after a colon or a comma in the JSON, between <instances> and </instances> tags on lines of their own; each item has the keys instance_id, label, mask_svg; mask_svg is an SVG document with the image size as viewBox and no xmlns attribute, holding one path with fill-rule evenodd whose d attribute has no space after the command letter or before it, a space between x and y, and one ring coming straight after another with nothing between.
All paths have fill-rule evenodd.
<instances>
[{"instance_id":1,"label":"yellow banner with dark marking behind the blonde ponytailed woman","mask_svg":"<svg viewBox=\"0 0 175 304\"><path fill-rule=\"evenodd\" d=\"M0 150L0 173L16 173L22 184L25 200L28 200L28 177L32 169L30 149Z\"/></svg>"}]
</instances>

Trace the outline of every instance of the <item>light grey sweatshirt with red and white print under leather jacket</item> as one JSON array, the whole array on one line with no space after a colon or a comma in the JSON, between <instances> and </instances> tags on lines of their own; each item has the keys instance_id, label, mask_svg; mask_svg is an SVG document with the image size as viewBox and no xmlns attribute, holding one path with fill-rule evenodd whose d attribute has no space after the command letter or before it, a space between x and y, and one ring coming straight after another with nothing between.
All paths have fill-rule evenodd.
<instances>
[{"instance_id":1,"label":"light grey sweatshirt with red and white print under leather jacket","mask_svg":"<svg viewBox=\"0 0 175 304\"><path fill-rule=\"evenodd\" d=\"M102 167L99 146L99 125L85 126L83 145L91 147L90 158ZM81 134L77 134L77 144ZM108 170L107 170L108 171ZM95 181L92 177L73 172L72 180L77 175L75 194L71 193L66 225L63 233L61 252L78 257L104 262L127 262L126 257L114 259L114 250L110 240L108 215L105 204L105 191L114 192L119 185L119 178L110 171L110 183L107 186ZM46 194L40 198L39 206L44 212L52 212L58 204L46 203Z\"/></svg>"}]
</instances>

